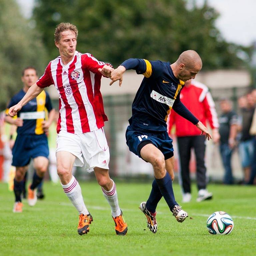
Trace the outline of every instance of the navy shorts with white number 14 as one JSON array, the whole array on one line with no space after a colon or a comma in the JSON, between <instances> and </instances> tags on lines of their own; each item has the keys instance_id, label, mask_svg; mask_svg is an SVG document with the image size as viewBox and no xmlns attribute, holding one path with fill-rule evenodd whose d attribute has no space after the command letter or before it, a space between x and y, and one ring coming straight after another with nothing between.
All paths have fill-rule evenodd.
<instances>
[{"instance_id":1,"label":"navy shorts with white number 14","mask_svg":"<svg viewBox=\"0 0 256 256\"><path fill-rule=\"evenodd\" d=\"M146 144L152 143L155 145L164 155L164 159L173 157L173 145L172 139L169 137L168 132L154 132L138 131L129 125L126 130L126 144L130 151L140 158L140 150Z\"/></svg>"}]
</instances>

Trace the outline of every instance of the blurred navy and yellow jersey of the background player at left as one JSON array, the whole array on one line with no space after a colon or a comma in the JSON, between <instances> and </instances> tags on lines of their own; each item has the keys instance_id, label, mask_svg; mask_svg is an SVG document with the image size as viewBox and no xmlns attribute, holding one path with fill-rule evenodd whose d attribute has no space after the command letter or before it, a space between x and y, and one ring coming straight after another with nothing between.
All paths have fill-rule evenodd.
<instances>
[{"instance_id":1,"label":"blurred navy and yellow jersey of the background player at left","mask_svg":"<svg viewBox=\"0 0 256 256\"><path fill-rule=\"evenodd\" d=\"M16 105L26 93L20 90L15 94L6 109L8 113L9 108ZM49 94L42 91L36 98L30 100L17 113L17 117L23 120L23 126L17 128L17 134L43 134L42 122L45 120L46 110L52 110L52 103Z\"/></svg>"}]
</instances>

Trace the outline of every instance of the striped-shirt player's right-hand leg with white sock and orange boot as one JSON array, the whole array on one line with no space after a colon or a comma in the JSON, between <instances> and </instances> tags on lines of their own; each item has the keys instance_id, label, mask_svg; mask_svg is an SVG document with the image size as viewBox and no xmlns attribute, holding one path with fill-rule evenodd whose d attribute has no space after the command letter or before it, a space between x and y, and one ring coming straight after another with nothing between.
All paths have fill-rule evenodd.
<instances>
[{"instance_id":1,"label":"striped-shirt player's right-hand leg with white sock and orange boot","mask_svg":"<svg viewBox=\"0 0 256 256\"><path fill-rule=\"evenodd\" d=\"M101 186L103 195L111 207L111 214L115 222L116 234L126 235L127 224L123 218L123 213L118 204L116 185L114 181L110 179L107 169L95 167L94 173L99 185Z\"/></svg>"}]
</instances>

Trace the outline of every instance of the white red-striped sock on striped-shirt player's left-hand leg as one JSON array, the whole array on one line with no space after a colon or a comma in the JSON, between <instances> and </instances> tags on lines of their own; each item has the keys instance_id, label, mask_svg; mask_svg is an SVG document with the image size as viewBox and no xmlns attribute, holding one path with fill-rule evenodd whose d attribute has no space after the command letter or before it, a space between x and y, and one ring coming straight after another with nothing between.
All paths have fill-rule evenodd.
<instances>
[{"instance_id":1,"label":"white red-striped sock on striped-shirt player's left-hand leg","mask_svg":"<svg viewBox=\"0 0 256 256\"><path fill-rule=\"evenodd\" d=\"M89 212L84 204L81 187L76 178L72 176L71 181L67 185L61 184L61 186L79 214L88 214Z\"/></svg>"}]
</instances>

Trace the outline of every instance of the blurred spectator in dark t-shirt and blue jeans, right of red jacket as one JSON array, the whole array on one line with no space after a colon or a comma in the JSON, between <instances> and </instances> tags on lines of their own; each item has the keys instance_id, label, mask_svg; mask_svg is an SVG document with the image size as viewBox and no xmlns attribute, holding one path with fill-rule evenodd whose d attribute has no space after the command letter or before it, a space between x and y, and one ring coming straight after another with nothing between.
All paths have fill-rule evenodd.
<instances>
[{"instance_id":1,"label":"blurred spectator in dark t-shirt and blue jeans, right of red jacket","mask_svg":"<svg viewBox=\"0 0 256 256\"><path fill-rule=\"evenodd\" d=\"M224 184L232 184L231 156L236 145L237 114L232 110L232 103L228 99L220 102L220 155L225 169Z\"/></svg>"}]
</instances>

